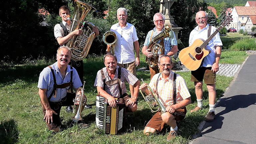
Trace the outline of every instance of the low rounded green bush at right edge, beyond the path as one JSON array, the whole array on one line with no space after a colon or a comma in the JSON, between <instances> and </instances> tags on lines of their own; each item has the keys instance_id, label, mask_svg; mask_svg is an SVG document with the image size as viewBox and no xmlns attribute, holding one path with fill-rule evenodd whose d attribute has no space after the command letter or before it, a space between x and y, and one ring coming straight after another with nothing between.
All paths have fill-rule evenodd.
<instances>
[{"instance_id":1,"label":"low rounded green bush at right edge, beyond the path","mask_svg":"<svg viewBox=\"0 0 256 144\"><path fill-rule=\"evenodd\" d=\"M230 49L240 50L240 51L256 50L255 39L244 38L244 39L238 40L230 47Z\"/></svg>"}]
</instances>

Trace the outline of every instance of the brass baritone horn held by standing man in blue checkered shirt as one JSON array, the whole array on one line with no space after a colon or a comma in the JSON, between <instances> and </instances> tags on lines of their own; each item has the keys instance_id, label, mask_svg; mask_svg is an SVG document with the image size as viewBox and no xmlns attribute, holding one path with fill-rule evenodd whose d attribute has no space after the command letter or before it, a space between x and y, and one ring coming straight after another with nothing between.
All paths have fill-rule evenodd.
<instances>
[{"instance_id":1,"label":"brass baritone horn held by standing man in blue checkered shirt","mask_svg":"<svg viewBox=\"0 0 256 144\"><path fill-rule=\"evenodd\" d=\"M162 32L160 32L158 35L156 35L148 44L148 49L150 49L150 52L152 52L152 57L148 58L146 57L146 63L152 68L157 67L159 54L158 51L160 50L160 55L164 54L164 47L162 47L160 44L156 43L157 41L164 39L166 37L169 37L170 39L174 38L173 30L170 26L166 25Z\"/></svg>"}]
</instances>

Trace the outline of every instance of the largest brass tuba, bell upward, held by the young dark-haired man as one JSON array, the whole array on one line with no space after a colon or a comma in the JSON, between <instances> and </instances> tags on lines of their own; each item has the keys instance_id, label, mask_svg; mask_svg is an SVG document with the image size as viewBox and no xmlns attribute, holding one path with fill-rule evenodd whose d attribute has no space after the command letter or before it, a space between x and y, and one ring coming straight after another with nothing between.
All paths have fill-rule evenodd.
<instances>
[{"instance_id":1,"label":"largest brass tuba, bell upward, held by the young dark-haired man","mask_svg":"<svg viewBox=\"0 0 256 144\"><path fill-rule=\"evenodd\" d=\"M70 32L76 29L82 29L81 35L73 36L66 46L70 48L71 59L74 61L83 60L89 53L95 33L92 32L94 24L84 21L89 11L96 11L93 6L90 6L79 0L75 0L74 15L71 23ZM84 21L84 22L83 22Z\"/></svg>"}]
</instances>

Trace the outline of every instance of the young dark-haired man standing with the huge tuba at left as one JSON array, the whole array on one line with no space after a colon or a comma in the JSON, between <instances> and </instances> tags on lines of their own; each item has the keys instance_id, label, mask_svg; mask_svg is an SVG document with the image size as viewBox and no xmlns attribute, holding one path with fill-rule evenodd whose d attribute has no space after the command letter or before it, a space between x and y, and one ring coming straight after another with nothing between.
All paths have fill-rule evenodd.
<instances>
[{"instance_id":1,"label":"young dark-haired man standing with the huge tuba at left","mask_svg":"<svg viewBox=\"0 0 256 144\"><path fill-rule=\"evenodd\" d=\"M55 25L54 36L55 36L56 40L58 41L59 45L62 46L62 45L65 45L73 36L81 35L82 30L76 29L76 30L70 32L71 21L68 19L68 18L70 18L70 11L67 6L61 6L59 8L59 16L61 17L62 22L60 24ZM93 32L95 32L95 37L99 35L99 30L96 26L93 26ZM83 83L83 76L84 76L83 60L79 60L79 61L71 60L69 65L76 68L79 78L81 80L81 83ZM72 112L72 107L68 106L66 108L66 111Z\"/></svg>"}]
</instances>

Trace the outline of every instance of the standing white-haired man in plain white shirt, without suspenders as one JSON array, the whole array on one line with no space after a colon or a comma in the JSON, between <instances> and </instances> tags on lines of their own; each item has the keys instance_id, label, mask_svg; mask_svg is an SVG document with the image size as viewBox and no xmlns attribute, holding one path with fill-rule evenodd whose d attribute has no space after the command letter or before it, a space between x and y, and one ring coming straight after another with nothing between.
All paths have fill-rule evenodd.
<instances>
[{"instance_id":1,"label":"standing white-haired man in plain white shirt, without suspenders","mask_svg":"<svg viewBox=\"0 0 256 144\"><path fill-rule=\"evenodd\" d=\"M137 37L137 32L134 25L128 23L127 10L125 8L117 9L118 23L111 26L110 31L113 31L117 40L114 45L114 54L117 57L117 65L129 70L136 76L136 66L140 64L140 49ZM110 45L107 45L106 53L109 53ZM136 57L134 55L134 49ZM134 93L134 88L130 85L131 96Z\"/></svg>"}]
</instances>

